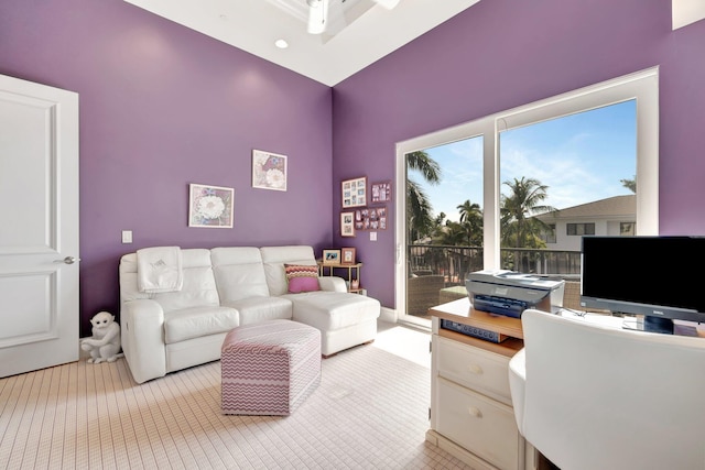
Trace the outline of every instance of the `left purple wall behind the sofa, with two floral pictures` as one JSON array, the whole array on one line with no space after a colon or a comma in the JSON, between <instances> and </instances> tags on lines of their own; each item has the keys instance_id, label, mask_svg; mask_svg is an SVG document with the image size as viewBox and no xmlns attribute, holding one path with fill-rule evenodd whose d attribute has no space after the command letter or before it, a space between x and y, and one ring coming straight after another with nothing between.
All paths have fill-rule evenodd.
<instances>
[{"instance_id":1,"label":"left purple wall behind the sofa, with two floral pictures","mask_svg":"<svg viewBox=\"0 0 705 470\"><path fill-rule=\"evenodd\" d=\"M0 74L79 94L82 336L123 253L330 247L329 87L121 0L0 3ZM252 149L289 156L285 193L251 187ZM187 227L189 183L235 188L232 229Z\"/></svg>"}]
</instances>

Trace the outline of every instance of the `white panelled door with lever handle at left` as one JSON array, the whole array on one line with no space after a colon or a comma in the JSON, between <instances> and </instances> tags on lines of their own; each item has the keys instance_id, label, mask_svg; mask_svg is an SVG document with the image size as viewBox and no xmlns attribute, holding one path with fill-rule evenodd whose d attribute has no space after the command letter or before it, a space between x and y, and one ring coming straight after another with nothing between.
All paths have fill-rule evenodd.
<instances>
[{"instance_id":1,"label":"white panelled door with lever handle at left","mask_svg":"<svg viewBox=\"0 0 705 470\"><path fill-rule=\"evenodd\" d=\"M0 376L78 356L78 95L0 75Z\"/></svg>"}]
</instances>

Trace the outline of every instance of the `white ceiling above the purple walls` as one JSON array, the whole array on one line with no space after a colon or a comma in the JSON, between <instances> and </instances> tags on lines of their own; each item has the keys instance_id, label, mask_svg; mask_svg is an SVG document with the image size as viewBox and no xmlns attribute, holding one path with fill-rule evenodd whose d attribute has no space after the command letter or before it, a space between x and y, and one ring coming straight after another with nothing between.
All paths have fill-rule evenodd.
<instances>
[{"instance_id":1,"label":"white ceiling above the purple walls","mask_svg":"<svg viewBox=\"0 0 705 470\"><path fill-rule=\"evenodd\" d=\"M328 29L306 31L306 0L124 0L334 86L479 0L330 0ZM285 50L274 42L283 39Z\"/></svg>"}]
</instances>

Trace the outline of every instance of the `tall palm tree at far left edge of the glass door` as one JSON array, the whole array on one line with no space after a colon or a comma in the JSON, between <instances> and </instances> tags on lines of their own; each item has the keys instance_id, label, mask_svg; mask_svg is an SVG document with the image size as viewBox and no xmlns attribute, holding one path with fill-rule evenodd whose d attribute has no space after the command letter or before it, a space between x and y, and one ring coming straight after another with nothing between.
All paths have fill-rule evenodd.
<instances>
[{"instance_id":1,"label":"tall palm tree at far left edge of the glass door","mask_svg":"<svg viewBox=\"0 0 705 470\"><path fill-rule=\"evenodd\" d=\"M424 151L406 154L406 168L421 173L426 183L441 183L441 165ZM406 227L409 240L417 240L429 234L434 227L433 207L421 185L406 178Z\"/></svg>"}]
</instances>

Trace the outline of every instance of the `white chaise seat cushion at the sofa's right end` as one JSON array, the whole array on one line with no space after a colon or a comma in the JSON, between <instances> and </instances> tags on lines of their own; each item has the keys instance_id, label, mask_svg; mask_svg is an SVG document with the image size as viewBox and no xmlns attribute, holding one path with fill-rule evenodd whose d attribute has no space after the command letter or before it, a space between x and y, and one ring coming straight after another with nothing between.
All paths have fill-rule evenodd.
<instances>
[{"instance_id":1,"label":"white chaise seat cushion at the sofa's right end","mask_svg":"<svg viewBox=\"0 0 705 470\"><path fill-rule=\"evenodd\" d=\"M293 305L292 319L318 328L322 331L337 330L380 315L379 300L346 292L306 292L286 294Z\"/></svg>"}]
</instances>

